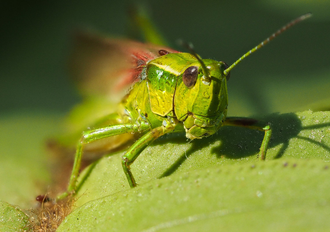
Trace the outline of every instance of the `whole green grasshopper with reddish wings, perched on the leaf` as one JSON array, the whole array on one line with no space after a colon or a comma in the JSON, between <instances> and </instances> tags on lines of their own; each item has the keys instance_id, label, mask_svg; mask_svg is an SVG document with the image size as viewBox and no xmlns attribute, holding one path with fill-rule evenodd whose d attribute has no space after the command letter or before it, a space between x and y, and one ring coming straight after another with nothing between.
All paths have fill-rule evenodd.
<instances>
[{"instance_id":1,"label":"whole green grasshopper with reddish wings, perched on the leaf","mask_svg":"<svg viewBox=\"0 0 330 232\"><path fill-rule=\"evenodd\" d=\"M128 135L126 140L131 139L132 134L142 135L122 156L122 167L131 187L137 183L130 165L149 144L167 133L185 132L186 137L193 140L208 137L224 125L260 130L265 135L258 157L264 160L272 134L270 124L251 118L226 117L230 71L245 57L310 16L308 13L292 20L231 66L212 59L201 59L193 51L182 53L133 41L103 41L111 50L120 50L119 53L124 54L125 62L128 62L124 65L131 65L121 75L121 81L113 85L117 88L127 83L133 85L119 103L117 112L107 117L110 125L83 132L69 186L58 198L75 194L84 147L118 135ZM115 92L113 86L112 91ZM113 139L107 143L115 144L116 141Z\"/></svg>"}]
</instances>

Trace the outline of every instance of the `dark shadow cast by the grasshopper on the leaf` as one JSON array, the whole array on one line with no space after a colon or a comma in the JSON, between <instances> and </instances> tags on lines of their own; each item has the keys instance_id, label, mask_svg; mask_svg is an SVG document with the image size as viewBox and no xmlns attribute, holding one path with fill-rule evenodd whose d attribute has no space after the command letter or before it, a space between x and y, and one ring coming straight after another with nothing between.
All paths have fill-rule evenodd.
<instances>
[{"instance_id":1,"label":"dark shadow cast by the grasshopper on the leaf","mask_svg":"<svg viewBox=\"0 0 330 232\"><path fill-rule=\"evenodd\" d=\"M269 144L269 148L276 147L278 145L282 145L281 148L277 151L276 155L273 155L272 158L281 158L285 153L285 150L289 146L289 141L292 138L299 138L305 141L308 141L312 144L320 146L321 148L327 150L330 153L330 147L315 141L309 137L304 137L299 135L302 130L306 129L318 129L322 127L329 127L330 123L320 123L311 126L303 127L301 124L301 119L297 117L294 113L288 114L270 114L260 118L263 121L270 122L272 125L273 133L272 138ZM177 135L171 136L171 138L163 139L161 141L155 141L155 143L164 145L168 142L168 139L176 141L176 143L183 144L187 143L187 141ZM260 144L263 139L263 132L257 130L251 130L242 127L235 126L223 126L221 127L216 134L213 136L203 138L201 140L193 140L191 141L192 146L185 151L184 154L180 156L180 158L173 163L161 177L166 177L175 172L179 166L185 162L187 158L196 149L203 149L210 144L214 144L216 141L220 141L219 145L214 146L211 149L211 153L214 154L217 158L228 158L228 159L241 159L244 157L248 157L251 155L256 155L259 152ZM175 139L172 137L176 137ZM257 158L257 157L256 157ZM270 158L270 157L268 157ZM267 159L267 157L266 157Z\"/></svg>"}]
</instances>

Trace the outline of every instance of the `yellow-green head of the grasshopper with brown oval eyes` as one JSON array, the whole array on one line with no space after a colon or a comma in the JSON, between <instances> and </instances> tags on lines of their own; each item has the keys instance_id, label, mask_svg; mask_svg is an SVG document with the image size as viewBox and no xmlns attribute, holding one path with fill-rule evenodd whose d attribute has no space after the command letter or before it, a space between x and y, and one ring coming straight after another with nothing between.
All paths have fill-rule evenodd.
<instances>
[{"instance_id":1,"label":"yellow-green head of the grasshopper with brown oval eyes","mask_svg":"<svg viewBox=\"0 0 330 232\"><path fill-rule=\"evenodd\" d=\"M180 75L174 110L179 121L183 121L187 138L212 135L222 125L228 105L227 80L223 75L227 67L224 62L203 59L192 63Z\"/></svg>"}]
</instances>

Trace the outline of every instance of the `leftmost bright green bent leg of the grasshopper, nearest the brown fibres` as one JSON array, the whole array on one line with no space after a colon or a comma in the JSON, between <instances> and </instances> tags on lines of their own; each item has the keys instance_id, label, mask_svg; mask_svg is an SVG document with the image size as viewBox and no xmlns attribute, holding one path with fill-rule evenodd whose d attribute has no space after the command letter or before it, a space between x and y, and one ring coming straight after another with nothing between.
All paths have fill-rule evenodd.
<instances>
[{"instance_id":1,"label":"leftmost bright green bent leg of the grasshopper, nearest the brown fibres","mask_svg":"<svg viewBox=\"0 0 330 232\"><path fill-rule=\"evenodd\" d=\"M82 134L82 138L80 139L77 145L75 162L73 164L73 169L67 191L57 196L57 199L63 199L67 197L69 194L75 194L77 190L76 182L79 175L80 165L82 161L82 152L85 144L114 135L142 132L142 131L147 131L149 129L150 127L148 123L141 122L139 124L133 124L133 123L117 124L117 125L105 126L94 130L85 131Z\"/></svg>"}]
</instances>

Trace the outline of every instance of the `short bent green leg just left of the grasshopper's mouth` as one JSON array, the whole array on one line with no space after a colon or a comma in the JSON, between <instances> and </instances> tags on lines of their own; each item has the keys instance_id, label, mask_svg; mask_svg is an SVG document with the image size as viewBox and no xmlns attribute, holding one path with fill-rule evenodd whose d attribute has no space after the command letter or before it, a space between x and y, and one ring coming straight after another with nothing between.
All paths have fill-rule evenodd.
<instances>
[{"instance_id":1,"label":"short bent green leg just left of the grasshopper's mouth","mask_svg":"<svg viewBox=\"0 0 330 232\"><path fill-rule=\"evenodd\" d=\"M172 119L165 119L163 121L163 125L156 127L149 131L147 134L142 136L136 143L132 145L128 149L128 151L122 156L121 164L123 166L124 173L126 175L126 178L128 180L128 183L131 187L136 186L136 182L134 180L134 177L132 175L130 165L136 160L136 158L140 155L140 153L146 149L149 144L151 144L155 139L159 138L160 136L171 132L174 130L177 123L174 123Z\"/></svg>"}]
</instances>

